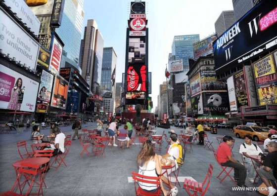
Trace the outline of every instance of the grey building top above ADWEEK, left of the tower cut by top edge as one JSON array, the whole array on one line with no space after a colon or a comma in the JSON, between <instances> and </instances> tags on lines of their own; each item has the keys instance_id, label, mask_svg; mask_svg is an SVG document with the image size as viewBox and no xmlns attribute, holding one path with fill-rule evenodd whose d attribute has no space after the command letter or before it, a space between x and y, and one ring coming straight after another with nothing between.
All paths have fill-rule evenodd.
<instances>
[{"instance_id":1,"label":"grey building top above ADWEEK, left of the tower cut by top edge","mask_svg":"<svg viewBox=\"0 0 277 196\"><path fill-rule=\"evenodd\" d=\"M235 23L234 10L222 11L215 22L217 35L220 37Z\"/></svg>"}]
</instances>

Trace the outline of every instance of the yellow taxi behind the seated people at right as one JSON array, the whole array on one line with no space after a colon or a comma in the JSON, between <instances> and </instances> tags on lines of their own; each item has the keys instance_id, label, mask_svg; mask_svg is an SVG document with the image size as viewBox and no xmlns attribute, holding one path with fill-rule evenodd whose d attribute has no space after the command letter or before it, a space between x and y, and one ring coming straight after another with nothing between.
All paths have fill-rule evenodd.
<instances>
[{"instance_id":1,"label":"yellow taxi behind the seated people at right","mask_svg":"<svg viewBox=\"0 0 277 196\"><path fill-rule=\"evenodd\" d=\"M268 138L269 129L260 126L238 125L234 128L234 135L237 138L250 135L254 141L265 140Z\"/></svg>"}]
</instances>

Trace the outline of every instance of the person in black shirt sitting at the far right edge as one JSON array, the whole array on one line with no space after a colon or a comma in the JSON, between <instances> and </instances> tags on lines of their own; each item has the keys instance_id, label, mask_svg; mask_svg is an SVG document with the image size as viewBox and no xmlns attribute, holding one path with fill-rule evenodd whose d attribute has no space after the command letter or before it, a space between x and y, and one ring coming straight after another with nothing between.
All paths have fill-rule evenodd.
<instances>
[{"instance_id":1,"label":"person in black shirt sitting at the far right edge","mask_svg":"<svg viewBox=\"0 0 277 196\"><path fill-rule=\"evenodd\" d=\"M268 187L268 196L274 196L277 190L272 187L270 180L277 181L277 142L269 142L267 147L269 154L266 156L263 166L260 167L258 173L261 180Z\"/></svg>"}]
</instances>

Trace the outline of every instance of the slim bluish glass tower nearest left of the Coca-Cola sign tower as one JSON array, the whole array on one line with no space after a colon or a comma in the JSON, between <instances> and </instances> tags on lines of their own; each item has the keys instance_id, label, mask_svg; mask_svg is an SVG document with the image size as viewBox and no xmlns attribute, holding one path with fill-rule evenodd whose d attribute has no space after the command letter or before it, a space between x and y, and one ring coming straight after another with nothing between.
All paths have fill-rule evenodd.
<instances>
[{"instance_id":1,"label":"slim bluish glass tower nearest left of the Coca-Cola sign tower","mask_svg":"<svg viewBox=\"0 0 277 196\"><path fill-rule=\"evenodd\" d=\"M103 48L100 95L103 98L105 112L114 111L115 78L112 78L111 76L113 74L115 76L116 61L117 55L113 47Z\"/></svg>"}]
</instances>

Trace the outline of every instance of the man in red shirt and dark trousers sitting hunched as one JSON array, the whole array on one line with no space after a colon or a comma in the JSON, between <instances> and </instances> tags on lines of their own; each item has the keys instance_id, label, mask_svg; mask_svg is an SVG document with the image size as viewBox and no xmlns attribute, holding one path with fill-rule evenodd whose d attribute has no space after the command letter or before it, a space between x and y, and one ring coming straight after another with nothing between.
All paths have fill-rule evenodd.
<instances>
[{"instance_id":1,"label":"man in red shirt and dark trousers sitting hunched","mask_svg":"<svg viewBox=\"0 0 277 196\"><path fill-rule=\"evenodd\" d=\"M217 149L217 159L222 166L234 168L234 180L237 182L238 187L247 187L245 185L246 168L243 163L235 160L231 155L231 146L233 138L229 135L223 137L223 142Z\"/></svg>"}]
</instances>

